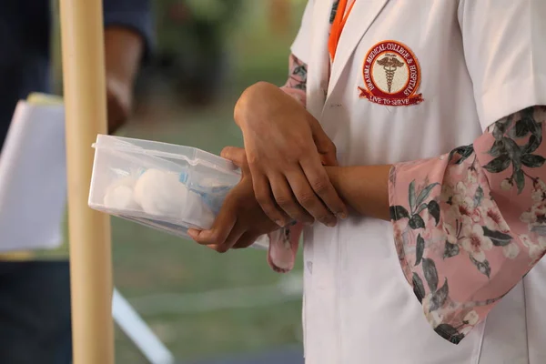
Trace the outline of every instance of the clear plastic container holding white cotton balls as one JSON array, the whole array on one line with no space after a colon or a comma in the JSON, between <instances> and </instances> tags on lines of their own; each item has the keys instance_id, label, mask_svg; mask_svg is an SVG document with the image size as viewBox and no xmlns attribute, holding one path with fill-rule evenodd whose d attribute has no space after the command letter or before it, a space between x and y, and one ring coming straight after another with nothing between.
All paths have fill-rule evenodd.
<instances>
[{"instance_id":1,"label":"clear plastic container holding white cotton balls","mask_svg":"<svg viewBox=\"0 0 546 364\"><path fill-rule=\"evenodd\" d=\"M187 238L209 228L240 170L222 157L120 136L96 137L89 207Z\"/></svg>"}]
</instances>

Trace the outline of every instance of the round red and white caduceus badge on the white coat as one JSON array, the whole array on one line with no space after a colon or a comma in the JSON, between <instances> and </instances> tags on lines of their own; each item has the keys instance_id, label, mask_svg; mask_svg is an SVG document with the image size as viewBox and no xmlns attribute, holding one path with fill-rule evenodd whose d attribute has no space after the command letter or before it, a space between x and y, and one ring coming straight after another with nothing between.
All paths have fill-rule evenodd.
<instances>
[{"instance_id":1,"label":"round red and white caduceus badge on the white coat","mask_svg":"<svg viewBox=\"0 0 546 364\"><path fill-rule=\"evenodd\" d=\"M387 40L374 45L364 58L365 87L360 97L386 106L410 106L423 101L416 94L420 85L420 65L410 48Z\"/></svg>"}]
</instances>

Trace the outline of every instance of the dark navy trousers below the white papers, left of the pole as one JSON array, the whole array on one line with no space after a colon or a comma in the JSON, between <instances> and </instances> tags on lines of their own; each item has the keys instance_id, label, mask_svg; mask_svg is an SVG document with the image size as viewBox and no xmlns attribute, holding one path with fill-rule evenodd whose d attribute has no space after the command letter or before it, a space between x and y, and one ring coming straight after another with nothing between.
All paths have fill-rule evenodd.
<instances>
[{"instance_id":1,"label":"dark navy trousers below the white papers, left of the pole","mask_svg":"<svg viewBox=\"0 0 546 364\"><path fill-rule=\"evenodd\" d=\"M0 363L70 364L67 261L0 261Z\"/></svg>"}]
</instances>

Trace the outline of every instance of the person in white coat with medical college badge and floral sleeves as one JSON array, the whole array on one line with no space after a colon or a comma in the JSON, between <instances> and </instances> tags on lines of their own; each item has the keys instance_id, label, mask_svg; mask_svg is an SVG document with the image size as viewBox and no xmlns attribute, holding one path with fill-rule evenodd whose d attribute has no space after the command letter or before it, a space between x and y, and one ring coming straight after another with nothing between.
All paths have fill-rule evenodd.
<instances>
[{"instance_id":1,"label":"person in white coat with medical college badge and floral sleeves","mask_svg":"<svg viewBox=\"0 0 546 364\"><path fill-rule=\"evenodd\" d=\"M222 154L243 177L190 235L225 252L269 234L288 271L308 225L306 362L546 362L545 17L309 0L287 85L239 98L245 149Z\"/></svg>"}]
</instances>

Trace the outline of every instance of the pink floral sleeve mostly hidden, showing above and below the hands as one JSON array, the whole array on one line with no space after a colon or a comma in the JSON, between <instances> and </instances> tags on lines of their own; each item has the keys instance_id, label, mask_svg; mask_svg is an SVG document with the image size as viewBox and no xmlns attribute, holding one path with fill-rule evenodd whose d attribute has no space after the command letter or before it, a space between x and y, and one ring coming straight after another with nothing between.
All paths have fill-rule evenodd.
<instances>
[{"instance_id":1,"label":"pink floral sleeve mostly hidden, showing above and below the hands","mask_svg":"<svg viewBox=\"0 0 546 364\"><path fill-rule=\"evenodd\" d=\"M306 106L307 65L294 55L288 62L288 81L280 89ZM286 273L294 268L302 230L301 224L293 224L269 234L268 264L273 270Z\"/></svg>"}]
</instances>

